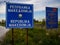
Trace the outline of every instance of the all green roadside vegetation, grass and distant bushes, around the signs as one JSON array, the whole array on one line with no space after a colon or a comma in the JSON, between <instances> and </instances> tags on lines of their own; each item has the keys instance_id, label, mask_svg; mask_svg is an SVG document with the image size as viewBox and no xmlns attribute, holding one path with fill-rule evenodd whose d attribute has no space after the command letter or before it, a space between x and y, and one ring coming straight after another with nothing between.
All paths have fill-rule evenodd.
<instances>
[{"instance_id":1,"label":"all green roadside vegetation, grass and distant bushes, around the signs","mask_svg":"<svg viewBox=\"0 0 60 45\"><path fill-rule=\"evenodd\" d=\"M4 22L4 21L3 21ZM0 25L5 26L5 22ZM26 30L14 29L14 45L26 45ZM12 30L10 29L2 42L2 45L12 44ZM34 20L34 28L28 29L28 45L60 45L60 21L58 29L46 29L45 20Z\"/></svg>"}]
</instances>

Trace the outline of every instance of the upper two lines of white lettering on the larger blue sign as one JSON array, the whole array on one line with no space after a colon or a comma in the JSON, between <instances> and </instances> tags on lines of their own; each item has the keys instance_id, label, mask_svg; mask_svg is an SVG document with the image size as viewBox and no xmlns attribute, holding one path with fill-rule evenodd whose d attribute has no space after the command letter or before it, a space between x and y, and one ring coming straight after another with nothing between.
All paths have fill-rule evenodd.
<instances>
[{"instance_id":1,"label":"upper two lines of white lettering on the larger blue sign","mask_svg":"<svg viewBox=\"0 0 60 45\"><path fill-rule=\"evenodd\" d=\"M31 13L31 7L30 6L17 6L17 5L10 5L10 8L8 9L8 12L27 12Z\"/></svg>"}]
</instances>

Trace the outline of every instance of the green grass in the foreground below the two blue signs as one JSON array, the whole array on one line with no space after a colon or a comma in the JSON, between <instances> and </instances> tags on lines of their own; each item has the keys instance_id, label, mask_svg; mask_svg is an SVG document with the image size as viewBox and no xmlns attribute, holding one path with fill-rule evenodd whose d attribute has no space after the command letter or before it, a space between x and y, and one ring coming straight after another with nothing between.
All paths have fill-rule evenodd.
<instances>
[{"instance_id":1,"label":"green grass in the foreground below the two blue signs","mask_svg":"<svg viewBox=\"0 0 60 45\"><path fill-rule=\"evenodd\" d=\"M4 43L11 44L12 41L11 30L7 33ZM29 45L60 45L60 31L52 30L46 31L43 29L29 29L28 30L28 44ZM26 45L26 29L14 29L14 43L15 45Z\"/></svg>"}]
</instances>

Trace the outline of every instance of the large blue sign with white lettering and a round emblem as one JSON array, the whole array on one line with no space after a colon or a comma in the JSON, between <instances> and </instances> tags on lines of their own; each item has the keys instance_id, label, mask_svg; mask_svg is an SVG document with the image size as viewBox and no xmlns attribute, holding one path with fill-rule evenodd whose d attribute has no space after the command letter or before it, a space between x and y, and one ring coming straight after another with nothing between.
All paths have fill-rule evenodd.
<instances>
[{"instance_id":1,"label":"large blue sign with white lettering and a round emblem","mask_svg":"<svg viewBox=\"0 0 60 45\"><path fill-rule=\"evenodd\" d=\"M6 28L33 28L33 5L6 3Z\"/></svg>"}]
</instances>

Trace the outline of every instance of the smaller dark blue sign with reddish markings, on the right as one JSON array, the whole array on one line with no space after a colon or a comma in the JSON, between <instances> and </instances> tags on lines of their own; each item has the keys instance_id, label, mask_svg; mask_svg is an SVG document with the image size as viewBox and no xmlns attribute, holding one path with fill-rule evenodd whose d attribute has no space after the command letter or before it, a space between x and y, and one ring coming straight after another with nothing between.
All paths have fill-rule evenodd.
<instances>
[{"instance_id":1,"label":"smaller dark blue sign with reddish markings, on the right","mask_svg":"<svg viewBox=\"0 0 60 45\"><path fill-rule=\"evenodd\" d=\"M58 28L58 8L46 7L46 28Z\"/></svg>"}]
</instances>

